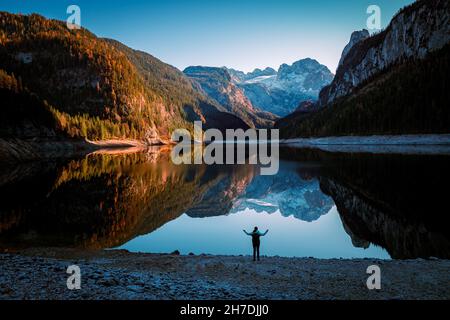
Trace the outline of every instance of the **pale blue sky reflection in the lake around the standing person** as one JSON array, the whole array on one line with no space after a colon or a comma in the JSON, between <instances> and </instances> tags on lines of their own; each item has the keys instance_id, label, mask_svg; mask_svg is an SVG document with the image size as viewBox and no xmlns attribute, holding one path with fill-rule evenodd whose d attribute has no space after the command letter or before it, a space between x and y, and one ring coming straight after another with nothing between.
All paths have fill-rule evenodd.
<instances>
[{"instance_id":1,"label":"pale blue sky reflection in the lake around the standing person","mask_svg":"<svg viewBox=\"0 0 450 320\"><path fill-rule=\"evenodd\" d=\"M137 237L120 249L132 252L182 254L247 255L251 254L251 238L242 229L258 226L270 229L262 239L261 254L284 257L315 258L380 258L389 259L381 247L355 248L345 232L336 207L319 220L308 223L294 217L244 210L236 214L209 218L182 215L152 232Z\"/></svg>"}]
</instances>

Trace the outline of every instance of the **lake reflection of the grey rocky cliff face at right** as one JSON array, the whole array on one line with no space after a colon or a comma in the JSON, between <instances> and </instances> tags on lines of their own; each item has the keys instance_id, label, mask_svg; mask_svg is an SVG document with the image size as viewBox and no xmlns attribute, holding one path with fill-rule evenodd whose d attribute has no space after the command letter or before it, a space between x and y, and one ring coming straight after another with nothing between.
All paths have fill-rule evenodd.
<instances>
[{"instance_id":1,"label":"lake reflection of the grey rocky cliff face at right","mask_svg":"<svg viewBox=\"0 0 450 320\"><path fill-rule=\"evenodd\" d=\"M333 197L344 229L356 247L370 243L385 248L394 259L448 258L450 240L442 233L428 230L419 222L390 214L384 203L364 197L364 192L334 181L321 179L321 188Z\"/></svg>"}]
</instances>

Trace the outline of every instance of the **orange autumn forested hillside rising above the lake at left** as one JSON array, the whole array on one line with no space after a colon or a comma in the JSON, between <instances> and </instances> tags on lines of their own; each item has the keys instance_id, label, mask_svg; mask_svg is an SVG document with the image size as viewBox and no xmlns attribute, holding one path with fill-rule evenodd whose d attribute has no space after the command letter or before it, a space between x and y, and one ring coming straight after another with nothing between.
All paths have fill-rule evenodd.
<instances>
[{"instance_id":1,"label":"orange autumn forested hillside rising above the lake at left","mask_svg":"<svg viewBox=\"0 0 450 320\"><path fill-rule=\"evenodd\" d=\"M245 127L195 92L181 72L149 57L85 29L69 30L60 21L0 12L2 77L15 79L18 91L26 89L24 94L35 102L24 104L18 113L16 99L8 98L18 92L4 87L0 99L10 101L2 103L4 121L13 114L26 118L28 108L45 105L58 134L149 143L167 141L172 130L189 128L192 120ZM219 121L221 116L224 121Z\"/></svg>"}]
</instances>

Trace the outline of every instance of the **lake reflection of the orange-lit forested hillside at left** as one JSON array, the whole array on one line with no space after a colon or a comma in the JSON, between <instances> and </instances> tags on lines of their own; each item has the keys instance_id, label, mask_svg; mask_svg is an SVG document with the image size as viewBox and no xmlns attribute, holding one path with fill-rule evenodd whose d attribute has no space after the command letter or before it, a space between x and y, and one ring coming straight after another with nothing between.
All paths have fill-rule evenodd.
<instances>
[{"instance_id":1,"label":"lake reflection of the orange-lit forested hillside at left","mask_svg":"<svg viewBox=\"0 0 450 320\"><path fill-rule=\"evenodd\" d=\"M56 167L48 164L0 187L7 195L0 232L9 245L118 246L179 217L225 178L231 186L224 186L224 196L228 192L231 201L239 180L245 184L254 171L176 166L161 150L90 155Z\"/></svg>"}]
</instances>

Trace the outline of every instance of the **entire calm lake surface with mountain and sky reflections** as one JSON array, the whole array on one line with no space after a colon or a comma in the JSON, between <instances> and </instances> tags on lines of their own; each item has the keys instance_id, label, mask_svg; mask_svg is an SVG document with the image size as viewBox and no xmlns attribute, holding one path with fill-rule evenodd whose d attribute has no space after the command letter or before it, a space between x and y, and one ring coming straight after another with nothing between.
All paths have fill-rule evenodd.
<instances>
[{"instance_id":1,"label":"entire calm lake surface with mountain and sky reflections","mask_svg":"<svg viewBox=\"0 0 450 320\"><path fill-rule=\"evenodd\" d=\"M257 165L176 166L166 149L0 168L0 248L450 257L449 156L281 150Z\"/></svg>"}]
</instances>

